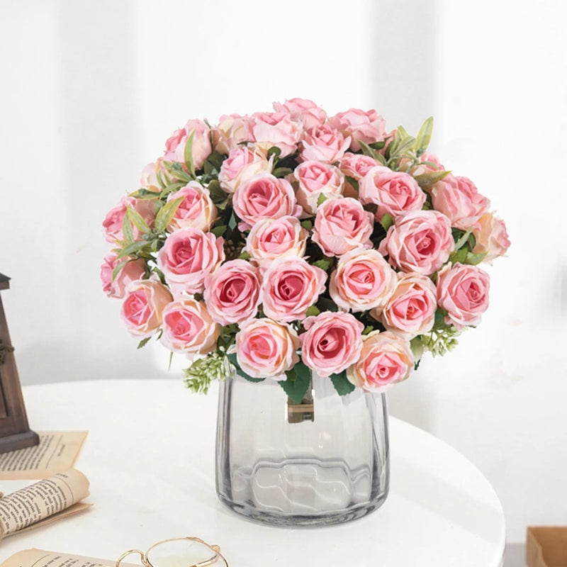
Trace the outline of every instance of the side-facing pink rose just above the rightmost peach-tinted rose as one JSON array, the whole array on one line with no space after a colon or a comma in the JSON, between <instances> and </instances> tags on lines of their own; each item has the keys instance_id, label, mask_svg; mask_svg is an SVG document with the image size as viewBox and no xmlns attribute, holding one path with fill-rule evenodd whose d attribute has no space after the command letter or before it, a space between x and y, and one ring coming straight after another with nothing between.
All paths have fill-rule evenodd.
<instances>
[{"instance_id":1,"label":"side-facing pink rose just above the rightmost peach-tinted rose","mask_svg":"<svg viewBox=\"0 0 567 567\"><path fill-rule=\"evenodd\" d=\"M478 193L476 185L466 177L448 175L432 187L435 210L449 217L451 226L468 230L488 211L490 201Z\"/></svg>"}]
</instances>

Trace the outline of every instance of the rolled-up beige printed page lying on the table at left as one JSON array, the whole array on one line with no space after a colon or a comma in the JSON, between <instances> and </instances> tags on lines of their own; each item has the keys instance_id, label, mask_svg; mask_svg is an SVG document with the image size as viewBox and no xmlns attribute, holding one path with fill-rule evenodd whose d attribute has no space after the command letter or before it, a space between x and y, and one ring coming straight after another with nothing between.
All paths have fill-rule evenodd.
<instances>
[{"instance_id":1,"label":"rolled-up beige printed page lying on the table at left","mask_svg":"<svg viewBox=\"0 0 567 567\"><path fill-rule=\"evenodd\" d=\"M89 495L89 481L72 468L0 499L0 539L63 510ZM77 510L79 511L79 510ZM67 514L69 511L67 511Z\"/></svg>"}]
</instances>

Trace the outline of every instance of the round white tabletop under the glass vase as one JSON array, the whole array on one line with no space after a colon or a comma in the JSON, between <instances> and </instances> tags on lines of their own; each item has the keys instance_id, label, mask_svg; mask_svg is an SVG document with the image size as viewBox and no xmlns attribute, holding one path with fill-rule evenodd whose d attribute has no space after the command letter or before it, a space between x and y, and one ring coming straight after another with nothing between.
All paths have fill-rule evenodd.
<instances>
[{"instance_id":1,"label":"round white tabletop under the glass vase","mask_svg":"<svg viewBox=\"0 0 567 567\"><path fill-rule=\"evenodd\" d=\"M0 544L0 561L37 547L116 559L159 539L220 545L230 567L497 567L503 510L484 476L432 435L391 417L391 489L371 515L339 526L277 528L224 507L215 493L217 391L181 380L101 380L23 388L36 431L89 430L77 459L86 512ZM9 493L30 481L0 481Z\"/></svg>"}]
</instances>

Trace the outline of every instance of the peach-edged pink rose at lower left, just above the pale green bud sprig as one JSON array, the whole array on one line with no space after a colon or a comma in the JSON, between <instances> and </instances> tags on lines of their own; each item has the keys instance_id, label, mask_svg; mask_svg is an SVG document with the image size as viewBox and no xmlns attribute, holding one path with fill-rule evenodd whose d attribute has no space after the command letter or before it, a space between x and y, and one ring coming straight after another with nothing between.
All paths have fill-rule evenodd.
<instances>
[{"instance_id":1,"label":"peach-edged pink rose at lower left, just above the pale green bud sprig","mask_svg":"<svg viewBox=\"0 0 567 567\"><path fill-rule=\"evenodd\" d=\"M193 357L208 354L217 347L220 327L213 321L202 301L180 298L168 303L163 312L161 342L173 352Z\"/></svg>"}]
</instances>

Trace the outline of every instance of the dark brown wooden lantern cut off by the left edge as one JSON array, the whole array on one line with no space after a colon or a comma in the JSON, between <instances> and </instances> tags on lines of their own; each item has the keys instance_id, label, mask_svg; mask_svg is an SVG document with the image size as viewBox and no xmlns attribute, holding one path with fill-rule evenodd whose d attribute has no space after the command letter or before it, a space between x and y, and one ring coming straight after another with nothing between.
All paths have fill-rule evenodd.
<instances>
[{"instance_id":1,"label":"dark brown wooden lantern cut off by the left edge","mask_svg":"<svg viewBox=\"0 0 567 567\"><path fill-rule=\"evenodd\" d=\"M0 274L0 291L9 287L9 277ZM31 447L38 443L38 434L28 426L16 359L13 356L8 323L0 298L0 453Z\"/></svg>"}]
</instances>

